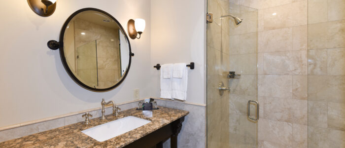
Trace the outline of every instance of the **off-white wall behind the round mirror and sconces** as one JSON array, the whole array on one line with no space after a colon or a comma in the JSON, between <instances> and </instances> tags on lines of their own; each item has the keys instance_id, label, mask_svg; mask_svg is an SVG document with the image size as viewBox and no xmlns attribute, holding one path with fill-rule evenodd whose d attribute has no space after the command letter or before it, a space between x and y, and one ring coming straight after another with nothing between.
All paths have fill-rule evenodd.
<instances>
[{"instance_id":1,"label":"off-white wall behind the round mirror and sconces","mask_svg":"<svg viewBox=\"0 0 345 148\"><path fill-rule=\"evenodd\" d=\"M70 14L85 7L110 13L126 31L129 19L146 20L142 37L130 39L135 56L127 78L108 92L92 92L77 85L65 71L59 50L46 45L50 39L59 39ZM152 70L148 60L150 0L58 0L49 17L36 15L27 0L9 0L0 5L0 18L0 127L101 107L102 98L115 103L131 101L136 88L140 98L151 96L147 87Z\"/></svg>"}]
</instances>

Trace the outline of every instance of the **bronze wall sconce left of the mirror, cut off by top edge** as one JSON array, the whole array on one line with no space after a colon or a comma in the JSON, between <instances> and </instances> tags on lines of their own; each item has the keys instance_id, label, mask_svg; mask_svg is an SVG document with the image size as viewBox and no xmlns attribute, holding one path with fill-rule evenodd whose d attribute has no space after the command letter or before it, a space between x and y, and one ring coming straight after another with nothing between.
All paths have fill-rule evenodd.
<instances>
[{"instance_id":1,"label":"bronze wall sconce left of the mirror, cut off by top edge","mask_svg":"<svg viewBox=\"0 0 345 148\"><path fill-rule=\"evenodd\" d=\"M56 0L28 0L30 8L39 16L50 16L56 8Z\"/></svg>"}]
</instances>

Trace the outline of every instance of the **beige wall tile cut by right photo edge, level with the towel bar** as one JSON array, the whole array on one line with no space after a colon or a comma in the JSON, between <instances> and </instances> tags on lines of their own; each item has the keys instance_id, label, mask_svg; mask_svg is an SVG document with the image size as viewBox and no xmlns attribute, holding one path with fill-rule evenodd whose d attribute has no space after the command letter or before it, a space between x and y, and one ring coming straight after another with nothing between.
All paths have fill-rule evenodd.
<instances>
[{"instance_id":1,"label":"beige wall tile cut by right photo edge, level with the towel bar","mask_svg":"<svg viewBox=\"0 0 345 148\"><path fill-rule=\"evenodd\" d=\"M345 75L345 48L327 49L327 74Z\"/></svg>"}]
</instances>

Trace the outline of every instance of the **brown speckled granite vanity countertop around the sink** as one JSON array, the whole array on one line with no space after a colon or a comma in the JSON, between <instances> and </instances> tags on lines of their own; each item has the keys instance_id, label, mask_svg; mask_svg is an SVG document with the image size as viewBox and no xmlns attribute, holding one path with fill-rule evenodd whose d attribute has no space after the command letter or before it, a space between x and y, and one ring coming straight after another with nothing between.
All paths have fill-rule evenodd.
<instances>
[{"instance_id":1,"label":"brown speckled granite vanity countertop around the sink","mask_svg":"<svg viewBox=\"0 0 345 148\"><path fill-rule=\"evenodd\" d=\"M119 112L117 118L110 114L105 116L106 119L104 121L101 120L101 117L91 119L89 125L86 125L84 122L79 122L5 141L0 143L0 148L122 148L188 113L189 111L159 107L159 110L153 110L153 117L148 118L142 114L142 111L130 109ZM104 142L98 142L81 132L82 130L130 115L150 120L151 122Z\"/></svg>"}]
</instances>

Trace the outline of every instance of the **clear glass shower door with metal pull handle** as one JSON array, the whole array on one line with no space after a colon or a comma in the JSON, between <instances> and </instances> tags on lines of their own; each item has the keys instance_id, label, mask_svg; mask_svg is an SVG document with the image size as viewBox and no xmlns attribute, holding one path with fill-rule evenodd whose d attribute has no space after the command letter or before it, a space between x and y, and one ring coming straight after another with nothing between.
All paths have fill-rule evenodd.
<instances>
[{"instance_id":1,"label":"clear glass shower door with metal pull handle","mask_svg":"<svg viewBox=\"0 0 345 148\"><path fill-rule=\"evenodd\" d=\"M257 148L258 10L207 0L207 12L207 148Z\"/></svg>"}]
</instances>

